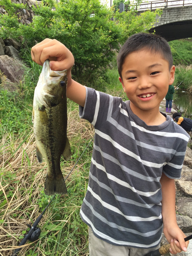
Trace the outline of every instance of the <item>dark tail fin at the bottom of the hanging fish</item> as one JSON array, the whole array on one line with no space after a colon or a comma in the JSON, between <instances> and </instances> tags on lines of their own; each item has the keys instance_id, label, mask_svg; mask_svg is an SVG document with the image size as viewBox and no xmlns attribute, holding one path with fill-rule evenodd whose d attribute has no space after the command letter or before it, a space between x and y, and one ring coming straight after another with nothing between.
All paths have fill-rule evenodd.
<instances>
[{"instance_id":1,"label":"dark tail fin at the bottom of the hanging fish","mask_svg":"<svg viewBox=\"0 0 192 256\"><path fill-rule=\"evenodd\" d=\"M47 196L55 194L67 194L67 187L62 174L57 177L47 176L45 183L45 194Z\"/></svg>"}]
</instances>

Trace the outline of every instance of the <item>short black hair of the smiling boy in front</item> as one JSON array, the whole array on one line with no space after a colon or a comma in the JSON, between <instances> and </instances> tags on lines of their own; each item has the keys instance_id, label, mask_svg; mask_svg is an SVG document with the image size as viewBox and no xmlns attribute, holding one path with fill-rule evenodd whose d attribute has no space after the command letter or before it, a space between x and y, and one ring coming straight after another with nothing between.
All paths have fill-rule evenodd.
<instances>
[{"instance_id":1,"label":"short black hair of the smiling boy in front","mask_svg":"<svg viewBox=\"0 0 192 256\"><path fill-rule=\"evenodd\" d=\"M142 49L151 50L162 54L162 57L168 61L169 70L173 66L173 56L168 42L161 36L150 33L138 33L130 36L122 46L117 56L117 66L119 76L122 79L122 66L127 55Z\"/></svg>"}]
</instances>

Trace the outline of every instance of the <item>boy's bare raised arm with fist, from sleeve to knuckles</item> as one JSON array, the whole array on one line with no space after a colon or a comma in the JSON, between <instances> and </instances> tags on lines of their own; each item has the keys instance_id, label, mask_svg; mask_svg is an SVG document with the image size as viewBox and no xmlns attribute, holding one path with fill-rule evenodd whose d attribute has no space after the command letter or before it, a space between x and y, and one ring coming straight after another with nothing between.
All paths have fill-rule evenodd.
<instances>
[{"instance_id":1,"label":"boy's bare raised arm with fist, from sleeve to knuckles","mask_svg":"<svg viewBox=\"0 0 192 256\"><path fill-rule=\"evenodd\" d=\"M50 68L55 71L67 70L68 87L67 97L84 106L86 101L86 88L74 81L71 77L71 69L74 65L73 54L56 39L46 38L31 48L32 60L43 65L46 59L50 60Z\"/></svg>"}]
</instances>

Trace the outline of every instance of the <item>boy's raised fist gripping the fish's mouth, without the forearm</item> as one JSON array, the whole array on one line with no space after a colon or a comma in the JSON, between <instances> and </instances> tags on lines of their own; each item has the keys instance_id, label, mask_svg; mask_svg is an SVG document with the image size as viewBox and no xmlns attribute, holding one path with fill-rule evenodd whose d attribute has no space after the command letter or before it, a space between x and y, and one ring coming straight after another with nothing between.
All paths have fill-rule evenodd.
<instances>
[{"instance_id":1,"label":"boy's raised fist gripping the fish's mouth, without the forearm","mask_svg":"<svg viewBox=\"0 0 192 256\"><path fill-rule=\"evenodd\" d=\"M50 68L55 71L70 71L74 65L73 54L56 39L46 38L32 47L31 57L41 66L46 59L50 59Z\"/></svg>"}]
</instances>

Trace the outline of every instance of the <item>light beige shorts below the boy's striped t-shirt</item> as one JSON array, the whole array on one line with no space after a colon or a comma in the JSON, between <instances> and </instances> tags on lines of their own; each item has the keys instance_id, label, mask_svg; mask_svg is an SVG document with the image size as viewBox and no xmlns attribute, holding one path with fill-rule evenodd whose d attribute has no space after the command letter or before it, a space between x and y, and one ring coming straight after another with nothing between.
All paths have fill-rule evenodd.
<instances>
[{"instance_id":1,"label":"light beige shorts below the boy's striped t-shirt","mask_svg":"<svg viewBox=\"0 0 192 256\"><path fill-rule=\"evenodd\" d=\"M96 238L92 229L89 228L89 256L143 256L159 247L160 245L151 249L140 249L128 246L116 246Z\"/></svg>"}]
</instances>

